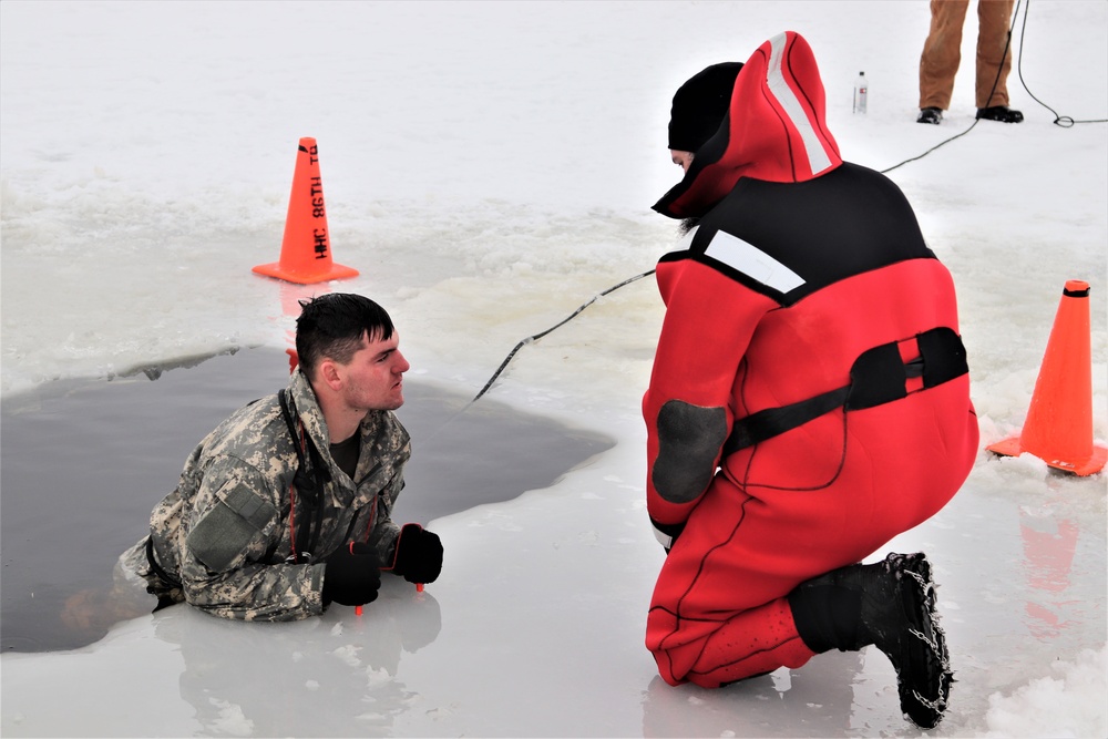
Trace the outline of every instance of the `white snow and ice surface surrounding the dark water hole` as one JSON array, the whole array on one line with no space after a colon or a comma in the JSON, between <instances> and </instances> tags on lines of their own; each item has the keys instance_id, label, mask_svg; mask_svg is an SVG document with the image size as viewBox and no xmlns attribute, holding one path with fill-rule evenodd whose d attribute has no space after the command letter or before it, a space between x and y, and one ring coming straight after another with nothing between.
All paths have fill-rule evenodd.
<instances>
[{"instance_id":1,"label":"white snow and ice surface surrounding the dark water hole","mask_svg":"<svg viewBox=\"0 0 1108 739\"><path fill-rule=\"evenodd\" d=\"M1030 93L1108 117L1108 3L1025 10L1009 90L1026 122L982 123L890 176L954 273L983 442L1023 423L1061 288L1085 279L1104 443L1106 124L1054 125ZM0 390L284 349L297 297L352 290L392 314L413 382L475 394L516 341L671 247L649 206L678 174L665 132L680 82L796 30L844 157L885 170L973 122L971 10L952 110L914 123L927 21L922 1L4 0ZM859 70L866 116L851 114ZM335 259L357 278L250 273L278 256L301 136L319 143ZM74 651L4 654L0 730L919 735L872 648L717 691L656 677L643 636L664 553L638 402L661 315L643 279L520 351L490 398L617 444L551 487L432 522L448 560L422 596L392 583L360 618L291 625L175 607ZM925 548L937 569L958 682L930 733L1108 732L1102 474L982 452L954 502L888 548Z\"/></svg>"}]
</instances>

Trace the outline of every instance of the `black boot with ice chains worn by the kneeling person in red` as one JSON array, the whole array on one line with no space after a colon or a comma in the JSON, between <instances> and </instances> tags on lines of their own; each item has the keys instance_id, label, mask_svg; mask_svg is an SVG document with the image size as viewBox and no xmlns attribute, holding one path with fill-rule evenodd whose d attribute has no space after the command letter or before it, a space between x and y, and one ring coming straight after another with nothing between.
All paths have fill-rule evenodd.
<instances>
[{"instance_id":1,"label":"black boot with ice chains worn by the kneeling person in red","mask_svg":"<svg viewBox=\"0 0 1108 739\"><path fill-rule=\"evenodd\" d=\"M813 651L876 646L896 670L904 715L923 729L938 726L954 674L926 555L890 554L876 564L840 567L801 584L789 602Z\"/></svg>"}]
</instances>

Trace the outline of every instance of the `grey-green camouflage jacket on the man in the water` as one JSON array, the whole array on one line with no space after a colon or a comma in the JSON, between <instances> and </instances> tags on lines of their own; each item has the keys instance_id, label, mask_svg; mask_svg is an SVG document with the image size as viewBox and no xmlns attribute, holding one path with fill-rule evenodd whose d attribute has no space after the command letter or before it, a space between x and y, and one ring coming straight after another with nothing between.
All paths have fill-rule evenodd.
<instances>
[{"instance_id":1,"label":"grey-green camouflage jacket on the man in the water","mask_svg":"<svg viewBox=\"0 0 1108 739\"><path fill-rule=\"evenodd\" d=\"M201 441L176 490L154 507L153 555L179 584L152 572L145 537L123 555L151 593L225 618L294 620L322 613L322 560L339 546L369 542L382 562L392 561L399 526L390 512L411 455L408 432L392 412L370 412L351 480L330 455L326 421L300 370L288 390L294 419L330 473L307 562L304 516L314 523L317 516L291 484L299 460L275 393L239 409ZM293 558L294 523L300 563Z\"/></svg>"}]
</instances>

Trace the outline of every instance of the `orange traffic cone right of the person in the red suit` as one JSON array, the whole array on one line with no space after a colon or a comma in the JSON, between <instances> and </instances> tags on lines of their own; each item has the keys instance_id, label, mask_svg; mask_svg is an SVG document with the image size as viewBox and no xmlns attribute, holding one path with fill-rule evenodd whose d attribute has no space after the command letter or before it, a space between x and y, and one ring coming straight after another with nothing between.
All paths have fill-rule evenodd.
<instances>
[{"instance_id":1,"label":"orange traffic cone right of the person in the red suit","mask_svg":"<svg viewBox=\"0 0 1108 739\"><path fill-rule=\"evenodd\" d=\"M1061 292L1023 431L988 451L1007 456L1029 452L1053 468L1083 476L1104 468L1108 449L1092 443L1089 332L1089 284L1071 279Z\"/></svg>"}]
</instances>

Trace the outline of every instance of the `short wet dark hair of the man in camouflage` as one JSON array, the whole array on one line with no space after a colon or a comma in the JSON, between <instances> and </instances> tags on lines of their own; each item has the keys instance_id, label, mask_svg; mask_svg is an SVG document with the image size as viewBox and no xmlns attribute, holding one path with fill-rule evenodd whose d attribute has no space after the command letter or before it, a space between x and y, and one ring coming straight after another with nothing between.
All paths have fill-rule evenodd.
<instances>
[{"instance_id":1,"label":"short wet dark hair of the man in camouflage","mask_svg":"<svg viewBox=\"0 0 1108 739\"><path fill-rule=\"evenodd\" d=\"M384 308L369 298L352 292L328 292L300 300L300 317L296 319L296 353L300 369L311 377L325 358L346 365L370 341L392 338L392 319Z\"/></svg>"}]
</instances>

